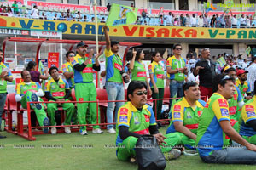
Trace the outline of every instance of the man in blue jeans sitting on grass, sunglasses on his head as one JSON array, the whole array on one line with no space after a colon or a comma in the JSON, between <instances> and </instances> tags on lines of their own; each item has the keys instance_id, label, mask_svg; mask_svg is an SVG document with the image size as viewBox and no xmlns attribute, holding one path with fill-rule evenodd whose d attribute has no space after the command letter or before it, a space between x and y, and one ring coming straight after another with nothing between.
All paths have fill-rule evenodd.
<instances>
[{"instance_id":1,"label":"man in blue jeans sitting on grass, sunglasses on his head","mask_svg":"<svg viewBox=\"0 0 256 170\"><path fill-rule=\"evenodd\" d=\"M200 116L196 145L201 160L206 163L256 164L256 145L248 143L230 125L227 99L234 96L234 82L228 75L215 76L214 94Z\"/></svg>"}]
</instances>

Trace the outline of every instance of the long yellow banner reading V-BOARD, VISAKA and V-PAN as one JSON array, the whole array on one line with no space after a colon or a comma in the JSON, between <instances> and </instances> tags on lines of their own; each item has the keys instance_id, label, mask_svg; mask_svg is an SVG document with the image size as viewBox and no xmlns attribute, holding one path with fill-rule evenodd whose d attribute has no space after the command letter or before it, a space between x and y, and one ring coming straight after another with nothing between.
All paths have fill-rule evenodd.
<instances>
[{"instance_id":1,"label":"long yellow banner reading V-BOARD, VISAKA and V-PAN","mask_svg":"<svg viewBox=\"0 0 256 170\"><path fill-rule=\"evenodd\" d=\"M62 20L34 20L0 17L0 26L44 31L62 31L63 34L95 35L95 24L90 22ZM103 24L98 26L102 34ZM255 29L175 27L175 26L116 26L109 27L113 37L160 37L160 38L200 38L200 39L255 39Z\"/></svg>"}]
</instances>

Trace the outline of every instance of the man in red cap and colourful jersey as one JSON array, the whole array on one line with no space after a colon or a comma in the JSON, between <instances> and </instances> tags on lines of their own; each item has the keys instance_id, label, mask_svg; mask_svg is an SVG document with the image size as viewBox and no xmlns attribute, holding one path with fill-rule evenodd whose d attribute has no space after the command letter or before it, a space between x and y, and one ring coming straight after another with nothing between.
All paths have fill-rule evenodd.
<instances>
[{"instance_id":1,"label":"man in red cap and colourful jersey","mask_svg":"<svg viewBox=\"0 0 256 170\"><path fill-rule=\"evenodd\" d=\"M248 71L245 70L238 70L236 71L236 86L240 89L240 92L242 96L244 97L244 101L247 102L247 100L252 99L253 97L251 96L251 86L247 82L247 73Z\"/></svg>"}]
</instances>

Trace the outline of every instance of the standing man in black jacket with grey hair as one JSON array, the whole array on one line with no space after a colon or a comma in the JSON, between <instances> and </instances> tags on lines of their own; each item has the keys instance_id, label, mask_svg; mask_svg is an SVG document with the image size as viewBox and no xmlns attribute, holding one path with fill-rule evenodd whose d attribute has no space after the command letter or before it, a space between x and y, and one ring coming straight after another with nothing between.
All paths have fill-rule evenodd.
<instances>
[{"instance_id":1,"label":"standing man in black jacket with grey hair","mask_svg":"<svg viewBox=\"0 0 256 170\"><path fill-rule=\"evenodd\" d=\"M211 60L209 48L201 51L201 60L195 64L194 75L199 75L199 88L201 96L210 98L212 96L212 79L216 74L216 65Z\"/></svg>"}]
</instances>

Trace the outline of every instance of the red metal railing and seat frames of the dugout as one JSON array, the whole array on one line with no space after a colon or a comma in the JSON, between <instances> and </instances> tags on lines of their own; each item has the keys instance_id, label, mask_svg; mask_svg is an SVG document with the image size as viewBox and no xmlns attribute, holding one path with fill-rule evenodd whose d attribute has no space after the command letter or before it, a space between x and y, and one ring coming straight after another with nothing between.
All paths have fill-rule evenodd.
<instances>
[{"instance_id":1,"label":"red metal railing and seat frames of the dugout","mask_svg":"<svg viewBox=\"0 0 256 170\"><path fill-rule=\"evenodd\" d=\"M165 92L167 92L167 90L169 91L169 88L166 88ZM102 93L103 91L105 91L105 93ZM7 97L7 106L5 108L5 111L7 113L7 116L5 117L5 120L7 122L7 126L5 127L5 130L8 133L13 133L16 135L19 135L20 137L27 139L27 140L36 140L36 137L33 135L38 135L38 134L44 134L43 131L32 131L32 129L36 129L36 128L42 128L39 126L36 127L32 127L32 122L31 122L31 113L32 113L32 108L30 106L30 104L33 103L44 103L44 104L48 104L48 103L73 103L74 105L77 105L78 103L96 103L96 119L97 122L96 124L74 124L74 125L56 125L56 126L49 126L50 127L61 127L61 129L58 129L58 133L64 133L64 127L80 127L80 126L94 126L94 125L99 125L101 126L102 129L105 129L107 125L109 124L115 124L113 123L107 123L107 115L106 115L106 109L108 107L108 102L126 102L126 94L127 91L125 90L125 100L108 100L107 97L107 92L105 89L100 89L97 88L97 94L102 94L100 96L106 96L105 98L101 98L101 99L97 99L96 101L44 101L44 102L28 102L27 105L27 109L23 109L20 107L20 102L16 102L15 101L15 94L8 94ZM165 96L168 93L165 93ZM99 96L98 96L99 97ZM203 99L204 97L202 97ZM153 105L153 102L157 102L157 100L163 100L163 105L168 105L169 104L169 100L170 99L179 99L179 98L164 98L164 99L148 99L148 105ZM101 119L99 119L99 109L100 109L100 116ZM65 111L60 107L58 108L59 111L61 111L61 122L64 122L65 120ZM15 128L13 127L13 117L12 117L12 112L13 111L17 111L17 124L15 126ZM27 125L24 124L23 122L23 114L24 112L27 111ZM156 122L165 122L165 121L169 121L170 119L160 119L157 120L157 116L156 116L156 111L154 111L154 115L155 115L155 119ZM5 114L3 114L5 115ZM114 114L113 114L113 120L114 120ZM88 128L88 130L91 130L91 128ZM78 132L79 128L72 128L71 129L72 132Z\"/></svg>"}]
</instances>

